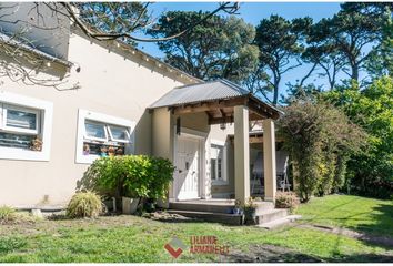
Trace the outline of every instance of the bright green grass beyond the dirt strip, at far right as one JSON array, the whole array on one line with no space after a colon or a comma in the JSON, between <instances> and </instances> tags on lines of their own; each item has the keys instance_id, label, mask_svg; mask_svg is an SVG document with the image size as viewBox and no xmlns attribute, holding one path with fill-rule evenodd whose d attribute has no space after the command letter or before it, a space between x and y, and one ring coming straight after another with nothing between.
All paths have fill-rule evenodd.
<instances>
[{"instance_id":1,"label":"bright green grass beyond the dirt strip, at far right","mask_svg":"<svg viewBox=\"0 0 393 266\"><path fill-rule=\"evenodd\" d=\"M331 195L312 198L298 209L311 224L339 226L393 237L393 202L360 196Z\"/></svg>"}]
</instances>

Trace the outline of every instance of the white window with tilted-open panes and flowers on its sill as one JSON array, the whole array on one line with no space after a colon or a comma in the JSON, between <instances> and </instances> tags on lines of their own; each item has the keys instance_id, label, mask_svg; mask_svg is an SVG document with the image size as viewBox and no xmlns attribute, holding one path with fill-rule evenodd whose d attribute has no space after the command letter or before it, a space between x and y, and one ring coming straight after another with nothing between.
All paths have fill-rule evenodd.
<instances>
[{"instance_id":1,"label":"white window with tilted-open panes and flowers on its sill","mask_svg":"<svg viewBox=\"0 0 393 266\"><path fill-rule=\"evenodd\" d=\"M132 153L134 122L79 110L77 163L92 163L100 156Z\"/></svg>"}]
</instances>

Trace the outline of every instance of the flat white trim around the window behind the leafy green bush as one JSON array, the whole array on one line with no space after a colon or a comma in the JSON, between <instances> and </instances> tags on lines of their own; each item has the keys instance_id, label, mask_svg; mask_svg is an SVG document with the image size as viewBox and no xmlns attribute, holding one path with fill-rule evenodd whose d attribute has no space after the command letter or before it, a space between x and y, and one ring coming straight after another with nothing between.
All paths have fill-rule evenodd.
<instances>
[{"instance_id":1,"label":"flat white trim around the window behind the leafy green bush","mask_svg":"<svg viewBox=\"0 0 393 266\"><path fill-rule=\"evenodd\" d=\"M75 163L91 164L94 160L100 157L98 155L92 155L92 154L91 155L83 155L83 142L84 142L83 136L85 135L85 127L84 127L85 120L91 120L91 121L102 122L105 124L129 127L130 132L131 132L131 137L130 137L130 141L127 143L128 146L127 146L125 152L127 153L134 152L133 151L133 147L134 147L134 133L133 133L133 131L134 131L135 124L137 124L134 121L79 109L79 111L78 111Z\"/></svg>"}]
</instances>

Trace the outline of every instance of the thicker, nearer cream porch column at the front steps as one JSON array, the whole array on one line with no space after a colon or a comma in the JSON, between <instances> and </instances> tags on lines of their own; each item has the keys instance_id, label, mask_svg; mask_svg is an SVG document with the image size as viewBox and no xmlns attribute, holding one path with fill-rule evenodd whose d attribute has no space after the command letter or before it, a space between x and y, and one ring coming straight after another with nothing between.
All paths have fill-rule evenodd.
<instances>
[{"instance_id":1,"label":"thicker, nearer cream porch column at the front steps","mask_svg":"<svg viewBox=\"0 0 393 266\"><path fill-rule=\"evenodd\" d=\"M249 109L234 106L234 195L242 204L250 197Z\"/></svg>"}]
</instances>

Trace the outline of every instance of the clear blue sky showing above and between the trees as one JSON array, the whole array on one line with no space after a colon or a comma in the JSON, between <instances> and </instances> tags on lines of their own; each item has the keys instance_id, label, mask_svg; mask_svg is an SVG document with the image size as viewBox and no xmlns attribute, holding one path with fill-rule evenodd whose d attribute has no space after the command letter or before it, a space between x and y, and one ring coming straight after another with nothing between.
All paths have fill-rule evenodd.
<instances>
[{"instance_id":1,"label":"clear blue sky showing above and between the trees","mask_svg":"<svg viewBox=\"0 0 393 266\"><path fill-rule=\"evenodd\" d=\"M340 10L341 2L241 2L238 17L243 18L245 22L258 25L259 22L269 18L271 14L279 14L285 19L292 20L294 18L311 17L314 22L330 18ZM212 11L216 9L219 2L155 2L151 4L151 12L153 18L158 18L162 12L181 10L181 11ZM220 12L220 14L225 14ZM158 49L154 43L140 43L139 49L152 54L157 58L163 58L163 53ZM308 66L296 68L293 71L285 73L282 80L281 88L289 81L294 81L302 78L306 73ZM311 78L320 84L316 76ZM282 89L281 93L285 93Z\"/></svg>"}]
</instances>

